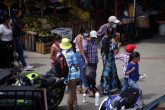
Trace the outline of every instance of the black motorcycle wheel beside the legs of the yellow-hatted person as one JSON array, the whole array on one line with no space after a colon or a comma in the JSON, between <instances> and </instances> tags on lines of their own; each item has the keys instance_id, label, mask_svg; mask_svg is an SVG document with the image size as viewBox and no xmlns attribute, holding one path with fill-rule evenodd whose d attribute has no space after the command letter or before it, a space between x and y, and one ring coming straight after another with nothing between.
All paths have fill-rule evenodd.
<instances>
[{"instance_id":1,"label":"black motorcycle wheel beside the legs of the yellow-hatted person","mask_svg":"<svg viewBox=\"0 0 165 110\"><path fill-rule=\"evenodd\" d=\"M58 107L64 97L65 87L55 87L48 90L47 103L49 110L54 110Z\"/></svg>"}]
</instances>

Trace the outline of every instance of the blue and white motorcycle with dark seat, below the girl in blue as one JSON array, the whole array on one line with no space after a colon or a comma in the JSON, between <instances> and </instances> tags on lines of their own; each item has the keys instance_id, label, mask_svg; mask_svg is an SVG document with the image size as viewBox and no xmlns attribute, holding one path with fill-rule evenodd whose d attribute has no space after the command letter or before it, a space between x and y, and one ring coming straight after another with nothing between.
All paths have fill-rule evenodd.
<instances>
[{"instance_id":1,"label":"blue and white motorcycle with dark seat, below the girl in blue","mask_svg":"<svg viewBox=\"0 0 165 110\"><path fill-rule=\"evenodd\" d=\"M99 110L111 110L110 106L117 110L121 110L122 106L126 109L133 108L139 96L139 90L130 87L121 92L119 96L109 96L102 102Z\"/></svg>"}]
</instances>

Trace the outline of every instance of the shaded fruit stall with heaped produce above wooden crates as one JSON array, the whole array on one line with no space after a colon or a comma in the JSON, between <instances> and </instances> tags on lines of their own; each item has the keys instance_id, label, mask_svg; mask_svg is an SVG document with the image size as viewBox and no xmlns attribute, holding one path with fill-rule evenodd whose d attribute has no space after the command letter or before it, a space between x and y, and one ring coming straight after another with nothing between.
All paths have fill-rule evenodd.
<instances>
[{"instance_id":1,"label":"shaded fruit stall with heaped produce above wooden crates","mask_svg":"<svg viewBox=\"0 0 165 110\"><path fill-rule=\"evenodd\" d=\"M25 49L47 54L53 43L53 34L61 34L73 40L78 35L81 25L95 28L88 10L80 8L75 1L35 0L24 4ZM44 5L43 5L44 4ZM61 32L63 29L64 32ZM69 29L70 35L66 34ZM64 34L65 33L65 34Z\"/></svg>"}]
</instances>

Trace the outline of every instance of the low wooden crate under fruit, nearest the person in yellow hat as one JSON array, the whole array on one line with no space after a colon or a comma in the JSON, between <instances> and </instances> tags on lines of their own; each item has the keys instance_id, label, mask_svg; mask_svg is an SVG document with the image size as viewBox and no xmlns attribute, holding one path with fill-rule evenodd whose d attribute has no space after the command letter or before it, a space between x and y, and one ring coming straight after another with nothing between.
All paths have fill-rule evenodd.
<instances>
[{"instance_id":1,"label":"low wooden crate under fruit, nearest the person in yellow hat","mask_svg":"<svg viewBox=\"0 0 165 110\"><path fill-rule=\"evenodd\" d=\"M53 44L53 41L51 42L36 42L36 52L40 54L48 54L50 53L50 48Z\"/></svg>"}]
</instances>

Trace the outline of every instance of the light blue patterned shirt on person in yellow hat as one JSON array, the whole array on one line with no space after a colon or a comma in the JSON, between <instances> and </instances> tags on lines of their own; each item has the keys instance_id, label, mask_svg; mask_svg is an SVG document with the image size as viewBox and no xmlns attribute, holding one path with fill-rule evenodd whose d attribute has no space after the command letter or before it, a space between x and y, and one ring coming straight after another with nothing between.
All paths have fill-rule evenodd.
<instances>
[{"instance_id":1,"label":"light blue patterned shirt on person in yellow hat","mask_svg":"<svg viewBox=\"0 0 165 110\"><path fill-rule=\"evenodd\" d=\"M75 65L78 65L78 61L76 58L76 54L73 52L73 50L62 50L63 55L66 58L67 64L69 66L70 72L68 75L68 80L72 79L78 79L79 73L76 70Z\"/></svg>"}]
</instances>

